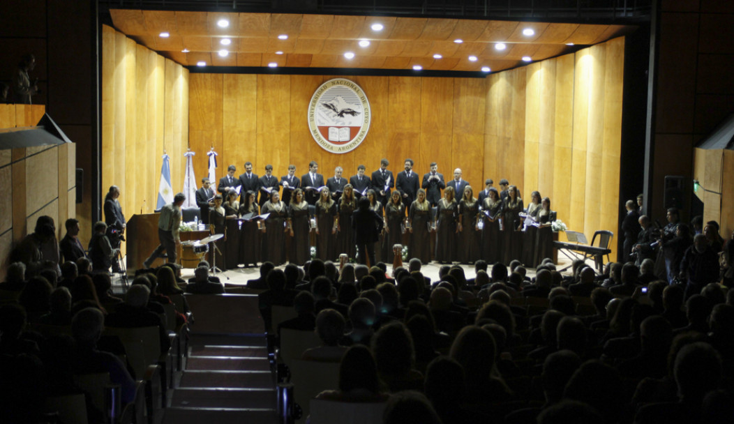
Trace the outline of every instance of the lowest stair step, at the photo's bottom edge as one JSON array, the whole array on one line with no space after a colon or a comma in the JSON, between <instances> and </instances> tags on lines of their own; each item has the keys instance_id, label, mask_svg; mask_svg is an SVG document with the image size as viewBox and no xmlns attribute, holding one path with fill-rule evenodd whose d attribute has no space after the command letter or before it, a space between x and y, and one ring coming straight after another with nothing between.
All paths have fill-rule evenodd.
<instances>
[{"instance_id":1,"label":"lowest stair step, at the photo's bottom edge","mask_svg":"<svg viewBox=\"0 0 734 424\"><path fill-rule=\"evenodd\" d=\"M167 408L164 424L272 424L277 423L275 409L247 408Z\"/></svg>"}]
</instances>

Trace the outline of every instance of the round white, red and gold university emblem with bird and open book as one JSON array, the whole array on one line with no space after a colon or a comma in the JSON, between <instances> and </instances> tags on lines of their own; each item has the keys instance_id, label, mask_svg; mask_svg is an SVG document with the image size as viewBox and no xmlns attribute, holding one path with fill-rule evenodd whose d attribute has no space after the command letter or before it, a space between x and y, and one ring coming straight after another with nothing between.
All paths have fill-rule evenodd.
<instances>
[{"instance_id":1,"label":"round white, red and gold university emblem with bird and open book","mask_svg":"<svg viewBox=\"0 0 734 424\"><path fill-rule=\"evenodd\" d=\"M344 78L324 82L308 105L308 129L324 150L346 153L367 136L372 114L362 88Z\"/></svg>"}]
</instances>

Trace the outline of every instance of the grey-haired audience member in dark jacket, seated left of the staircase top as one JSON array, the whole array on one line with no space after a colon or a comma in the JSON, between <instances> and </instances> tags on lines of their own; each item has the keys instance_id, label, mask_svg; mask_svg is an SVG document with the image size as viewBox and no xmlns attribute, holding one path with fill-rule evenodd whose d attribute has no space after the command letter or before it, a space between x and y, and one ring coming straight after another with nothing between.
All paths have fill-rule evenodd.
<instances>
[{"instance_id":1,"label":"grey-haired audience member in dark jacket, seated left of the staircase top","mask_svg":"<svg viewBox=\"0 0 734 424\"><path fill-rule=\"evenodd\" d=\"M139 277L138 277L139 278ZM139 328L158 326L161 338L161 353L167 352L170 346L166 323L147 305L150 289L143 284L133 284L128 289L125 302L118 305L115 312L107 315L105 325L117 328Z\"/></svg>"}]
</instances>

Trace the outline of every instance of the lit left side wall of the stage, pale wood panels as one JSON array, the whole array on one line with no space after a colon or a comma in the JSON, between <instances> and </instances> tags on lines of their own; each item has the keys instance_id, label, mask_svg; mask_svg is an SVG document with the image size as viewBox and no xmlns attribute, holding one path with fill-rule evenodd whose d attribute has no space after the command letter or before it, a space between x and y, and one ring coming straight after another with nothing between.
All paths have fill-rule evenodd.
<instances>
[{"instance_id":1,"label":"lit left side wall of the stage, pale wood panels","mask_svg":"<svg viewBox=\"0 0 734 424\"><path fill-rule=\"evenodd\" d=\"M109 26L102 35L102 195L119 186L130 219L156 208L164 151L183 190L189 71Z\"/></svg>"}]
</instances>

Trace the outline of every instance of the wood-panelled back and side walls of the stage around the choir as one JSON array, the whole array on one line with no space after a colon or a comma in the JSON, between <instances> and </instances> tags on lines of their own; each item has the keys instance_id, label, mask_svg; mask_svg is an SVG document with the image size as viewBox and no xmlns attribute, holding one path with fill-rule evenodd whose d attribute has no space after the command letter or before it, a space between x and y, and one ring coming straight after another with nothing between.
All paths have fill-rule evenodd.
<instances>
[{"instance_id":1,"label":"wood-panelled back and side walls of the stage around the choir","mask_svg":"<svg viewBox=\"0 0 734 424\"><path fill-rule=\"evenodd\" d=\"M333 76L189 76L113 29L103 36L103 187L121 187L128 216L143 200L144 213L155 207L165 139L175 191L187 147L197 180L211 147L217 178L229 164L244 172L245 161L258 175L272 164L280 177L313 160L328 178L336 166L347 177L358 164L372 172L383 157L399 172L410 157L421 175L432 161L447 180L461 167L475 193L485 178L507 178L526 201L539 190L570 230L618 236L622 37L487 78L350 76L373 117L362 145L339 155L322 150L306 122L313 92Z\"/></svg>"}]
</instances>

